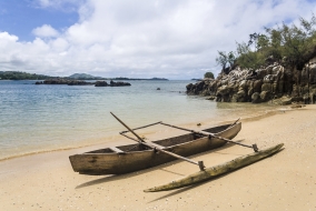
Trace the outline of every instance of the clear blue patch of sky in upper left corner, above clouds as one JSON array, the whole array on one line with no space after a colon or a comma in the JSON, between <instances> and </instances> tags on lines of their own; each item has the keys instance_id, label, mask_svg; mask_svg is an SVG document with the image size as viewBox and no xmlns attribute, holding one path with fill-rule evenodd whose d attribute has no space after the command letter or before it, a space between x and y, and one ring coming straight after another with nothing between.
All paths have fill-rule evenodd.
<instances>
[{"instance_id":1,"label":"clear blue patch of sky in upper left corner, above clouds","mask_svg":"<svg viewBox=\"0 0 316 211\"><path fill-rule=\"evenodd\" d=\"M42 8L30 0L0 0L0 31L16 34L20 41L32 41L36 38L32 30L39 26L66 29L75 24L79 16L75 7L63 7Z\"/></svg>"}]
</instances>

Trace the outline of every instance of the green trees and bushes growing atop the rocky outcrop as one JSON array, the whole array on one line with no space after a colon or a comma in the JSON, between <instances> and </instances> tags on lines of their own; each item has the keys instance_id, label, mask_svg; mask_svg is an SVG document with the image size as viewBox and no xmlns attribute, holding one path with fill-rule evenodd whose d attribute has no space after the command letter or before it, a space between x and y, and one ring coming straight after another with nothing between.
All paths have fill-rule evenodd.
<instances>
[{"instance_id":1,"label":"green trees and bushes growing atop the rocky outcrop","mask_svg":"<svg viewBox=\"0 0 316 211\"><path fill-rule=\"evenodd\" d=\"M249 41L236 43L235 53L218 51L216 62L226 68L229 63L240 68L258 69L268 60L302 70L304 63L316 56L316 18L299 18L299 26L283 23L276 28L266 28L265 34L251 33Z\"/></svg>"}]
</instances>

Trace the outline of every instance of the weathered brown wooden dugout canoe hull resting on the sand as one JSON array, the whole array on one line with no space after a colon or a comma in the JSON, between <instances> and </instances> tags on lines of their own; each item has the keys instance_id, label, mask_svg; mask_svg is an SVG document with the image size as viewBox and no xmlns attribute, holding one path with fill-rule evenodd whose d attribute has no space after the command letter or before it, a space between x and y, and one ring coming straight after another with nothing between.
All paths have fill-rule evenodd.
<instances>
[{"instance_id":1,"label":"weathered brown wooden dugout canoe hull resting on the sand","mask_svg":"<svg viewBox=\"0 0 316 211\"><path fill-rule=\"evenodd\" d=\"M204 131L214 133L217 137L233 139L240 130L241 123L238 122L205 129ZM166 151L188 157L223 147L226 141L190 132L148 143ZM139 171L176 160L176 158L136 143L70 155L69 160L75 172L100 175Z\"/></svg>"}]
</instances>

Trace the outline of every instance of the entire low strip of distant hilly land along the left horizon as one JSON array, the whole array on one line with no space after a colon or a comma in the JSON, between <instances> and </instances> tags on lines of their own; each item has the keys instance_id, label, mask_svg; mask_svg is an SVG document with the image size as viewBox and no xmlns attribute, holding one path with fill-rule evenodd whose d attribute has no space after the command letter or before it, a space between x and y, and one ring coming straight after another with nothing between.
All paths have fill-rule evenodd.
<instances>
[{"instance_id":1,"label":"entire low strip of distant hilly land along the left horizon","mask_svg":"<svg viewBox=\"0 0 316 211\"><path fill-rule=\"evenodd\" d=\"M132 79L132 78L102 78L93 77L87 73L75 73L69 77L50 77L45 74L36 74L20 71L0 71L0 80L47 80L47 79L68 79L68 80L165 80L165 78L151 78L151 79Z\"/></svg>"}]
</instances>

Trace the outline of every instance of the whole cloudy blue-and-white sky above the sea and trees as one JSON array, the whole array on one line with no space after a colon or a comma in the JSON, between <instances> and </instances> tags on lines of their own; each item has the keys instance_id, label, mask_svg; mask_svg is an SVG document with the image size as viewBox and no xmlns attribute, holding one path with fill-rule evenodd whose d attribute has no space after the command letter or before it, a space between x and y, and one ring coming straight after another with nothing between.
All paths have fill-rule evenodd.
<instances>
[{"instance_id":1,"label":"whole cloudy blue-and-white sky above the sea and trees","mask_svg":"<svg viewBox=\"0 0 316 211\"><path fill-rule=\"evenodd\" d=\"M0 0L0 71L217 76L218 51L316 13L316 0Z\"/></svg>"}]
</instances>

